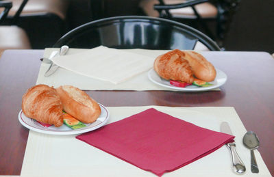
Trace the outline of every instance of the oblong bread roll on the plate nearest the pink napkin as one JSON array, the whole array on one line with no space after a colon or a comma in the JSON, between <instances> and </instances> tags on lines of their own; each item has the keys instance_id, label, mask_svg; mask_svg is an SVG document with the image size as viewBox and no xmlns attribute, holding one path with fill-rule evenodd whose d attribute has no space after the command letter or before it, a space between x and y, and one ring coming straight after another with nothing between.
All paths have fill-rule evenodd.
<instances>
[{"instance_id":1,"label":"oblong bread roll on the plate nearest the pink napkin","mask_svg":"<svg viewBox=\"0 0 274 177\"><path fill-rule=\"evenodd\" d=\"M56 90L66 113L86 124L95 122L99 118L101 108L86 92L71 85L63 85Z\"/></svg>"}]
</instances>

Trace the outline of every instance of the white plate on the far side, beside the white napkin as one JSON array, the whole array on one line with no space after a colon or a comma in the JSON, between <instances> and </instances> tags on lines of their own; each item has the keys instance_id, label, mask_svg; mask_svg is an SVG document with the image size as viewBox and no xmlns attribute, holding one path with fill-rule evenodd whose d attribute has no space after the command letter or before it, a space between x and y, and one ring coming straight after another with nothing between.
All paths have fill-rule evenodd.
<instances>
[{"instance_id":1,"label":"white plate on the far side, beside the white napkin","mask_svg":"<svg viewBox=\"0 0 274 177\"><path fill-rule=\"evenodd\" d=\"M171 85L168 80L162 79L162 77L160 77L153 68L149 70L148 77L150 81L152 81L153 83L157 85L161 85L162 87L167 87L174 90L181 90L184 92L200 92L200 91L212 90L214 88L220 87L227 81L227 75L225 74L225 72L217 68L216 68L216 78L214 79L214 81L209 82L209 83L212 83L213 85L208 87L197 87L195 85L189 85L187 87L176 87L174 85Z\"/></svg>"}]
</instances>

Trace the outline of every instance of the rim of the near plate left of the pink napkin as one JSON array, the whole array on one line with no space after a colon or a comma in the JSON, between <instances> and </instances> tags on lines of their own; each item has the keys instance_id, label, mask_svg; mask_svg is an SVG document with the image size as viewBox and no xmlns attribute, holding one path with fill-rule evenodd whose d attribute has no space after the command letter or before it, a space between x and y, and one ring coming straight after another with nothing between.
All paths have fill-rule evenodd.
<instances>
[{"instance_id":1,"label":"rim of the near plate left of the pink napkin","mask_svg":"<svg viewBox=\"0 0 274 177\"><path fill-rule=\"evenodd\" d=\"M25 126L25 128L28 128L29 130L32 130L32 131L36 131L38 133L44 133L44 134L48 134L48 135L77 135L77 134L86 133L89 131L94 131L97 128L100 128L101 126L105 125L108 122L108 120L110 118L110 113L109 113L108 109L105 106L101 105L100 103L98 103L98 104L101 108L105 109L105 112L107 115L105 116L105 120L103 120L103 122L97 124L96 126L92 126L90 128L85 128L85 129L80 128L79 130L71 129L71 131L49 131L46 128L45 128L45 130L42 130L42 129L36 128L34 126L31 126L23 121L22 114L24 114L24 113L23 113L22 109L18 113L18 120L23 126ZM28 118L26 115L25 115L25 117ZM31 118L29 118L29 119L31 119Z\"/></svg>"}]
</instances>

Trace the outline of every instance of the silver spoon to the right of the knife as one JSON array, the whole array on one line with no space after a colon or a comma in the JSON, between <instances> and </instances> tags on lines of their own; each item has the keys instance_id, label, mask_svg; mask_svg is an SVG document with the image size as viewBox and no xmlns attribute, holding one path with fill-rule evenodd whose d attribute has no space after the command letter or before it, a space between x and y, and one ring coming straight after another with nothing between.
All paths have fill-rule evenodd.
<instances>
[{"instance_id":1,"label":"silver spoon to the right of the knife","mask_svg":"<svg viewBox=\"0 0 274 177\"><path fill-rule=\"evenodd\" d=\"M242 143L245 145L245 147L249 148L251 152L251 172L258 174L259 168L253 151L259 148L260 141L258 136L253 131L248 131L242 138Z\"/></svg>"}]
</instances>

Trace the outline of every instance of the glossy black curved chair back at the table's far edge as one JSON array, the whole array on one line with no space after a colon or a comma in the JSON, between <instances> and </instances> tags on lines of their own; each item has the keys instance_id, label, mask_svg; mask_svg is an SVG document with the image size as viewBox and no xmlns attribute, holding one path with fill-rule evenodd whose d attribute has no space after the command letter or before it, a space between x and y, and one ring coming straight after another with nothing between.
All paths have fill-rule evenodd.
<instances>
[{"instance_id":1,"label":"glossy black curved chair back at the table's far edge","mask_svg":"<svg viewBox=\"0 0 274 177\"><path fill-rule=\"evenodd\" d=\"M210 51L220 51L208 36L182 23L149 16L116 16L81 25L53 47L66 44L84 49L103 45L116 49L192 50L199 43Z\"/></svg>"}]
</instances>

